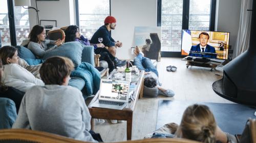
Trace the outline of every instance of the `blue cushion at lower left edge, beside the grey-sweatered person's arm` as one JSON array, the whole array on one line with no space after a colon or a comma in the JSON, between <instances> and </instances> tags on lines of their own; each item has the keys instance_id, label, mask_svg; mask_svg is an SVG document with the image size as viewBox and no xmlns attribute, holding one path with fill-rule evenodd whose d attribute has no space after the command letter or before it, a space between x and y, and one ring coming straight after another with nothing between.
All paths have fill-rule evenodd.
<instances>
[{"instance_id":1,"label":"blue cushion at lower left edge, beside the grey-sweatered person's arm","mask_svg":"<svg viewBox=\"0 0 256 143\"><path fill-rule=\"evenodd\" d=\"M17 118L14 101L0 98L0 129L10 129Z\"/></svg>"}]
</instances>

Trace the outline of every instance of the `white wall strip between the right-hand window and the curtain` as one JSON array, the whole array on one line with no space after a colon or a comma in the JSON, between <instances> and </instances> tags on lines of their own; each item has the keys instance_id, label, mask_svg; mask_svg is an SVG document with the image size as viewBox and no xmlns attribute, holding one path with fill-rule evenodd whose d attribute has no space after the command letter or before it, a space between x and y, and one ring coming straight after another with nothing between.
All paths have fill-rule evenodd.
<instances>
[{"instance_id":1,"label":"white wall strip between the right-hand window and the curtain","mask_svg":"<svg viewBox=\"0 0 256 143\"><path fill-rule=\"evenodd\" d=\"M216 31L230 32L232 49L236 44L239 30L241 0L217 0Z\"/></svg>"}]
</instances>

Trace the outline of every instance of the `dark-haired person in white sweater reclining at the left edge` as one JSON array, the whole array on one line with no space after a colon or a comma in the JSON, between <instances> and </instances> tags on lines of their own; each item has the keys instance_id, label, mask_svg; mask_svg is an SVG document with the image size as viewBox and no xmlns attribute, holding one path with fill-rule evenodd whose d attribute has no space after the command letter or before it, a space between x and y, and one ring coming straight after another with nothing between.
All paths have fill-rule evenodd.
<instances>
[{"instance_id":1,"label":"dark-haired person in white sweater reclining at the left edge","mask_svg":"<svg viewBox=\"0 0 256 143\"><path fill-rule=\"evenodd\" d=\"M13 46L4 46L0 49L0 57L4 65L1 82L19 91L26 92L34 85L45 85L31 72L18 65L19 57L17 49Z\"/></svg>"}]
</instances>

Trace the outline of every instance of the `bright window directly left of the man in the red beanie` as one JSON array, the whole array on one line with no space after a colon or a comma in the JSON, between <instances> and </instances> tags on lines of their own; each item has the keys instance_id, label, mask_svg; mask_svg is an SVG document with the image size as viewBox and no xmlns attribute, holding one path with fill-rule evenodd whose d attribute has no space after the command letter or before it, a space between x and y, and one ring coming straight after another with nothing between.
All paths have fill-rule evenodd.
<instances>
[{"instance_id":1,"label":"bright window directly left of the man in the red beanie","mask_svg":"<svg viewBox=\"0 0 256 143\"><path fill-rule=\"evenodd\" d=\"M80 31L83 36L91 39L98 28L110 15L110 0L78 0Z\"/></svg>"}]
</instances>

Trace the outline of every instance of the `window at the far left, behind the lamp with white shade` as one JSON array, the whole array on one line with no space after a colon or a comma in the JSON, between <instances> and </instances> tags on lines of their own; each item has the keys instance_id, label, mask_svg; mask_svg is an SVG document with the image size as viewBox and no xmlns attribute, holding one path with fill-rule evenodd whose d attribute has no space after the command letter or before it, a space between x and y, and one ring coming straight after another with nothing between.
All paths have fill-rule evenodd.
<instances>
[{"instance_id":1,"label":"window at the far left, behind the lamp with white shade","mask_svg":"<svg viewBox=\"0 0 256 143\"><path fill-rule=\"evenodd\" d=\"M24 9L23 7L14 7L13 3L7 2L7 0L0 0L0 43L1 46L5 45L20 45L22 40L28 38L29 30L29 14L28 9ZM9 10L8 10L9 5ZM11 26L10 29L10 9L14 9L14 20L15 27ZM11 33L14 32L14 35ZM16 35L16 37L15 37ZM14 36L15 40L12 39ZM15 42L14 42L15 41Z\"/></svg>"}]
</instances>

